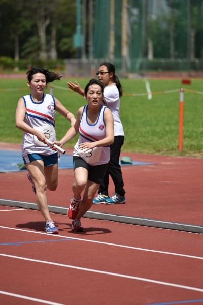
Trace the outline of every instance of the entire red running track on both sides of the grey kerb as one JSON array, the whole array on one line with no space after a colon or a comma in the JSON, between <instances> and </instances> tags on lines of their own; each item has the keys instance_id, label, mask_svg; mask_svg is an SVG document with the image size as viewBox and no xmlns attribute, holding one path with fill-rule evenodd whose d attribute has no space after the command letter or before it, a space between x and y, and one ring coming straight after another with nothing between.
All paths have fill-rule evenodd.
<instances>
[{"instance_id":1,"label":"entire red running track on both sides of the grey kerb","mask_svg":"<svg viewBox=\"0 0 203 305\"><path fill-rule=\"evenodd\" d=\"M201 159L122 155L156 164L122 167L126 204L92 210L202 225ZM35 203L26 176L1 173L1 198ZM72 184L60 170L49 205L67 207ZM87 218L74 233L66 215L52 218L59 235L39 211L0 207L1 304L203 304L201 234Z\"/></svg>"}]
</instances>

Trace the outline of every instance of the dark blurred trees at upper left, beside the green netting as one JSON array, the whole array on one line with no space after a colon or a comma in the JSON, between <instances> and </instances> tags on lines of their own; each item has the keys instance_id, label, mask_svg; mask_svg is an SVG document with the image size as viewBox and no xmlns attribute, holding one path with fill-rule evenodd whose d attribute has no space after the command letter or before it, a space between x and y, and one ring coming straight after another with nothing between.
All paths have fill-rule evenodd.
<instances>
[{"instance_id":1,"label":"dark blurred trees at upper left, beside the green netting","mask_svg":"<svg viewBox=\"0 0 203 305\"><path fill-rule=\"evenodd\" d=\"M0 0L1 56L30 62L74 57L72 0Z\"/></svg>"}]
</instances>

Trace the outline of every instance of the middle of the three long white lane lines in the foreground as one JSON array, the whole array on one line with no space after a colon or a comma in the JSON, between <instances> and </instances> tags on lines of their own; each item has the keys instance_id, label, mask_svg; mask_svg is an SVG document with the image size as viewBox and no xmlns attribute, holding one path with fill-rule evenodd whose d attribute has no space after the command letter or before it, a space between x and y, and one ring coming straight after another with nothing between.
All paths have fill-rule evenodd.
<instances>
[{"instance_id":1,"label":"middle of the three long white lane lines in the foreground","mask_svg":"<svg viewBox=\"0 0 203 305\"><path fill-rule=\"evenodd\" d=\"M65 268L72 268L72 269L77 269L77 270L95 272L95 273L100 273L100 274L107 275L107 276L114 276L114 277L120 277L120 278L125 278L125 279L138 280L138 281L150 282L150 283L154 283L154 284L160 284L160 285L166 285L166 286L172 286L172 287L178 287L178 288L183 288L183 289L203 292L203 289L201 289L201 288L190 287L190 286L185 286L185 285L179 285L179 284L174 284L174 283L167 283L167 282L156 281L156 280L150 280L150 279L146 279L146 278L140 278L140 277L134 277L134 276L128 276L128 275L122 275L120 273L101 271L101 270L96 270L96 269L89 269L89 268L83 268L83 267L77 267L77 266L72 266L72 265L59 264L59 263L48 262L48 261L41 261L41 260L38 260L38 259L31 259L31 258L26 258L26 257L21 257L21 256L3 254L3 253L0 253L0 256L5 256L5 257L10 257L10 258L15 258L15 259L26 260L26 261L30 261L30 262L54 265L54 266L59 266L59 267L65 267Z\"/></svg>"}]
</instances>

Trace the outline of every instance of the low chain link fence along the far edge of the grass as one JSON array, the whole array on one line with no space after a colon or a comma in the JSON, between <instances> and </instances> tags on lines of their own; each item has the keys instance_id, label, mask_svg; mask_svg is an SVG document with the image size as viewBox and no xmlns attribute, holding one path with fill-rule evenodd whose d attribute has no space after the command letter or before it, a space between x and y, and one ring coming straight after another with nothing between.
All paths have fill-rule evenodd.
<instances>
[{"instance_id":1,"label":"low chain link fence along the far edge of the grass","mask_svg":"<svg viewBox=\"0 0 203 305\"><path fill-rule=\"evenodd\" d=\"M65 59L65 76L66 77L95 77L100 63L109 61L105 59ZM188 63L187 59L153 59L144 58L140 63L140 72L136 72L136 60L131 63L130 69L123 71L121 62L114 62L116 74L120 77L141 77L144 75L177 75L188 77L203 77L203 60L194 59Z\"/></svg>"}]
</instances>

